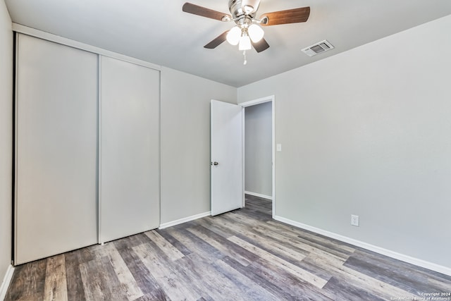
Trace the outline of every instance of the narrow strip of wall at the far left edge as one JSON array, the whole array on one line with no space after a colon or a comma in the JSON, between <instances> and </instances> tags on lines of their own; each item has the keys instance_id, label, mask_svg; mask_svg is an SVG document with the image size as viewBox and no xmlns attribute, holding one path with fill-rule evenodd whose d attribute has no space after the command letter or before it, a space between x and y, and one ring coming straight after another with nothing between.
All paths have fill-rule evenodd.
<instances>
[{"instance_id":1,"label":"narrow strip of wall at the far left edge","mask_svg":"<svg viewBox=\"0 0 451 301\"><path fill-rule=\"evenodd\" d=\"M0 1L0 283L11 263L12 74L11 18Z\"/></svg>"}]
</instances>

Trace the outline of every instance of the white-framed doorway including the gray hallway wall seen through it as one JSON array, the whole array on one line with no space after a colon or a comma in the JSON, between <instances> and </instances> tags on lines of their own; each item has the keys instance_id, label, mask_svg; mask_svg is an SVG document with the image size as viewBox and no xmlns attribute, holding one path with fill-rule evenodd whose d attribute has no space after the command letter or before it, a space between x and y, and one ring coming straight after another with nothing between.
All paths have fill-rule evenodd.
<instances>
[{"instance_id":1,"label":"white-framed doorway including the gray hallway wall seen through it","mask_svg":"<svg viewBox=\"0 0 451 301\"><path fill-rule=\"evenodd\" d=\"M272 201L275 215L274 96L240 104L243 108L243 207L245 195Z\"/></svg>"}]
</instances>

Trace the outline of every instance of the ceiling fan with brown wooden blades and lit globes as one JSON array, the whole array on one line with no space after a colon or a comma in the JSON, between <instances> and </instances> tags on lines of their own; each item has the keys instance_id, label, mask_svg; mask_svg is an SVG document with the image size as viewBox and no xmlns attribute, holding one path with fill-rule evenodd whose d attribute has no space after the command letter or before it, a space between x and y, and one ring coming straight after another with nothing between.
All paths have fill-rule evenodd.
<instances>
[{"instance_id":1,"label":"ceiling fan with brown wooden blades and lit globes","mask_svg":"<svg viewBox=\"0 0 451 301\"><path fill-rule=\"evenodd\" d=\"M235 22L235 27L218 35L218 37L206 44L205 48L214 49L227 40L230 44L238 44L238 49L242 51L251 49L252 45L257 52L269 48L268 42L263 38L264 31L259 25L271 26L302 23L306 22L310 15L310 7L307 6L264 13L260 18L256 18L259 5L260 0L229 0L230 15L187 2L183 4L183 11L223 22Z\"/></svg>"}]
</instances>

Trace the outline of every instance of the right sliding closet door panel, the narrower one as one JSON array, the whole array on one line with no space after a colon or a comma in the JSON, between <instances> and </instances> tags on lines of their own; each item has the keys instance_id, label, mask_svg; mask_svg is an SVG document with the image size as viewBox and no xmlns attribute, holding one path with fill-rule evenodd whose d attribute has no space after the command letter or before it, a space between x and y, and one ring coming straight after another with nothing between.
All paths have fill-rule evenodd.
<instances>
[{"instance_id":1,"label":"right sliding closet door panel, the narrower one","mask_svg":"<svg viewBox=\"0 0 451 301\"><path fill-rule=\"evenodd\" d=\"M158 70L101 56L99 242L159 226Z\"/></svg>"}]
</instances>

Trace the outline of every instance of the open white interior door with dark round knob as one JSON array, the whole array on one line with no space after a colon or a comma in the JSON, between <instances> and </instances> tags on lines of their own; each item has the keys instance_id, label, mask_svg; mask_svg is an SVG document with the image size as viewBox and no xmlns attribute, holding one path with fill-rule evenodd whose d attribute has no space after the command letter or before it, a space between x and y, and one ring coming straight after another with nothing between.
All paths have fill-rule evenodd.
<instances>
[{"instance_id":1,"label":"open white interior door with dark round knob","mask_svg":"<svg viewBox=\"0 0 451 301\"><path fill-rule=\"evenodd\" d=\"M242 199L242 107L211 100L211 215L241 208Z\"/></svg>"}]
</instances>

